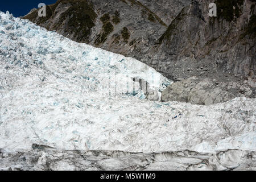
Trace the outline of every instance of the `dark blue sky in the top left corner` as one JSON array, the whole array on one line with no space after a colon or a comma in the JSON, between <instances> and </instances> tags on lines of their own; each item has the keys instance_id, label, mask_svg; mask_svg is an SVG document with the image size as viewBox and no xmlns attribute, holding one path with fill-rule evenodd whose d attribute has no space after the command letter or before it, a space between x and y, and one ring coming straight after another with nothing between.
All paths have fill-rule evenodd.
<instances>
[{"instance_id":1,"label":"dark blue sky in the top left corner","mask_svg":"<svg viewBox=\"0 0 256 182\"><path fill-rule=\"evenodd\" d=\"M46 5L51 5L57 0L4 0L0 2L0 11L6 13L9 11L15 17L24 16L30 12L31 9L38 8L39 3L45 3Z\"/></svg>"}]
</instances>

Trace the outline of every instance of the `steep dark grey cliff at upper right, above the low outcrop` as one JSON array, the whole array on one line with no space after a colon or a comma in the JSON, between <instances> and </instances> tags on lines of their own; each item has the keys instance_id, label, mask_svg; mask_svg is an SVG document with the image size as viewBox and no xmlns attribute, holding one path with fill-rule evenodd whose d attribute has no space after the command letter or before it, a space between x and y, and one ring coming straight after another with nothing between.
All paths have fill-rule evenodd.
<instances>
[{"instance_id":1,"label":"steep dark grey cliff at upper right, above the low outcrop","mask_svg":"<svg viewBox=\"0 0 256 182\"><path fill-rule=\"evenodd\" d=\"M174 76L193 60L201 66L213 64L216 71L255 75L255 2L215 1L216 18L208 15L210 2L185 6L145 59Z\"/></svg>"}]
</instances>

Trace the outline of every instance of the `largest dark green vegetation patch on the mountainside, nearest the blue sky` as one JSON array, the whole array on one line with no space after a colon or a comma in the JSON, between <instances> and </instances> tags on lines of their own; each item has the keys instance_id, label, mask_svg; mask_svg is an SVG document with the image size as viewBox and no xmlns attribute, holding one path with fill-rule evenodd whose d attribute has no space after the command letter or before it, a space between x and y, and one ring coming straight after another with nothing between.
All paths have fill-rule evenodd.
<instances>
[{"instance_id":1,"label":"largest dark green vegetation patch on the mountainside, nearest the blue sky","mask_svg":"<svg viewBox=\"0 0 256 182\"><path fill-rule=\"evenodd\" d=\"M88 42L90 31L95 26L94 21L97 14L94 12L93 5L85 0L58 0L55 4L47 6L46 17L38 18L38 10L25 16L24 19L29 19L36 24L46 23L47 20L55 18L56 7L60 4L71 5L69 9L60 14L59 21L54 27L49 29L50 24L46 27L47 30L59 30L65 20L68 20L68 26L65 30L68 33L75 34L79 39L77 42ZM75 28L74 28L75 27Z\"/></svg>"}]
</instances>

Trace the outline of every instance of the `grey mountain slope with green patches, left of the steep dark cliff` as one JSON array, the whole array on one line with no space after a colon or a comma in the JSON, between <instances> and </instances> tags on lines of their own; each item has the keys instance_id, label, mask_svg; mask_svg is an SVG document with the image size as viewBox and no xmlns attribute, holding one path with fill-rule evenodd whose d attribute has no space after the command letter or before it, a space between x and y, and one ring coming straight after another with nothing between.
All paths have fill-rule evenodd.
<instances>
[{"instance_id":1,"label":"grey mountain slope with green patches, left of the steep dark cliff","mask_svg":"<svg viewBox=\"0 0 256 182\"><path fill-rule=\"evenodd\" d=\"M76 42L137 59L147 51L144 45L154 43L167 28L151 10L131 0L59 0L47 6L47 12L45 18L36 10L24 19Z\"/></svg>"}]
</instances>

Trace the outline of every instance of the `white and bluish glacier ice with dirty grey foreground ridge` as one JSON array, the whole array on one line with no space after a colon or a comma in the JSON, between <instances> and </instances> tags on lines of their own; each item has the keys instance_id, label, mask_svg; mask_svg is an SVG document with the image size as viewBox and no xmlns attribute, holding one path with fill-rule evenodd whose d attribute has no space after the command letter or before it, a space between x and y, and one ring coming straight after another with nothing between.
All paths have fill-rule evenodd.
<instances>
[{"instance_id":1,"label":"white and bluish glacier ice with dirty grey foreground ridge","mask_svg":"<svg viewBox=\"0 0 256 182\"><path fill-rule=\"evenodd\" d=\"M170 84L131 57L0 12L0 169L49 169L55 155L56 170L256 169L255 98L160 102Z\"/></svg>"}]
</instances>

